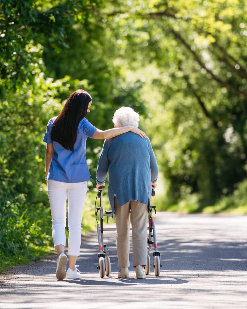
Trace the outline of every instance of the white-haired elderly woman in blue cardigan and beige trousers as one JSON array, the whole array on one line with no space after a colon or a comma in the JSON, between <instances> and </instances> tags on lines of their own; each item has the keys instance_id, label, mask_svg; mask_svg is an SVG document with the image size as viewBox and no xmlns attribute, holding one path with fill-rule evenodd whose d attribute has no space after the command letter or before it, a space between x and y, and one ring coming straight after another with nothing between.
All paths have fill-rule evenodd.
<instances>
[{"instance_id":1,"label":"white-haired elderly woman in blue cardigan and beige trousers","mask_svg":"<svg viewBox=\"0 0 247 309\"><path fill-rule=\"evenodd\" d=\"M114 128L138 127L139 115L132 108L121 107L113 116ZM109 171L109 201L115 210L118 277L128 278L130 260L130 210L133 266L136 278L145 278L147 263L147 215L152 186L156 187L158 166L148 138L131 132L105 140L97 166L97 188L104 184Z\"/></svg>"}]
</instances>

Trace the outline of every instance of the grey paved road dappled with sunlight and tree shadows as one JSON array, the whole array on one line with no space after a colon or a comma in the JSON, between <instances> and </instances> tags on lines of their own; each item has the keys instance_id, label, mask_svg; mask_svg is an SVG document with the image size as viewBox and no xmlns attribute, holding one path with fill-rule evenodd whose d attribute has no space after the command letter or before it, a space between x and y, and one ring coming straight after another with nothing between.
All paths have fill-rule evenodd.
<instances>
[{"instance_id":1,"label":"grey paved road dappled with sunlight and tree shadows","mask_svg":"<svg viewBox=\"0 0 247 309\"><path fill-rule=\"evenodd\" d=\"M247 216L157 213L159 277L100 278L96 233L82 239L80 280L57 281L56 256L1 277L0 308L247 308Z\"/></svg>"}]
</instances>

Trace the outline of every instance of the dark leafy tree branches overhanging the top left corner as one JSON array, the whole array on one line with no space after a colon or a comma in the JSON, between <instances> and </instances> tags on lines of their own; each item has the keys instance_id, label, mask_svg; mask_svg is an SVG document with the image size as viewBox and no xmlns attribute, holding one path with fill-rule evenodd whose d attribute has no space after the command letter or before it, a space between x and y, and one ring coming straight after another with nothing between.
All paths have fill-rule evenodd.
<instances>
[{"instance_id":1,"label":"dark leafy tree branches overhanging the top left corner","mask_svg":"<svg viewBox=\"0 0 247 309\"><path fill-rule=\"evenodd\" d=\"M94 2L81 1L0 1L0 93L15 90L23 82L33 82L33 69L38 65L29 42L38 38L39 43L49 42L60 52L68 47L64 39L67 30L76 21L83 22ZM35 49L35 47L34 47Z\"/></svg>"}]
</instances>

